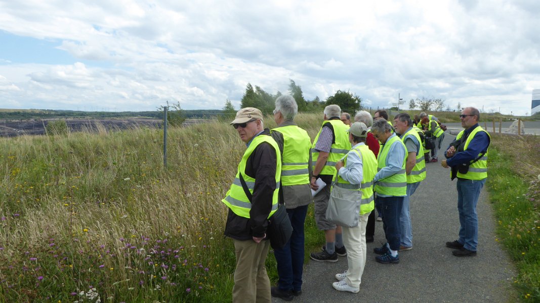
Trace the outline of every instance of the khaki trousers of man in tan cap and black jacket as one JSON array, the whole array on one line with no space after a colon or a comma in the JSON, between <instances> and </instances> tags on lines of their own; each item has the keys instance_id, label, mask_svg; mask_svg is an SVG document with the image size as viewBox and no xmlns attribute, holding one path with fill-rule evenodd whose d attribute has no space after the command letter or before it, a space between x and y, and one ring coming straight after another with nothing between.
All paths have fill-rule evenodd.
<instances>
[{"instance_id":1,"label":"khaki trousers of man in tan cap and black jacket","mask_svg":"<svg viewBox=\"0 0 540 303\"><path fill-rule=\"evenodd\" d=\"M237 267L234 270L233 303L271 303L270 279L265 260L270 241L234 240Z\"/></svg>"}]
</instances>

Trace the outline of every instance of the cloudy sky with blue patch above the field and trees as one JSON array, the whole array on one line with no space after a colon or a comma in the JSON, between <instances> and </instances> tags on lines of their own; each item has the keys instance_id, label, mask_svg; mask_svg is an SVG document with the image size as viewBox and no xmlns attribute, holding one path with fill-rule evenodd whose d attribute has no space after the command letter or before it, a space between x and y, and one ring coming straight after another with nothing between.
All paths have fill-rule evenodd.
<instances>
[{"instance_id":1,"label":"cloudy sky with blue patch above the field and trees","mask_svg":"<svg viewBox=\"0 0 540 303\"><path fill-rule=\"evenodd\" d=\"M540 1L0 0L0 108L238 108L246 85L530 114Z\"/></svg>"}]
</instances>

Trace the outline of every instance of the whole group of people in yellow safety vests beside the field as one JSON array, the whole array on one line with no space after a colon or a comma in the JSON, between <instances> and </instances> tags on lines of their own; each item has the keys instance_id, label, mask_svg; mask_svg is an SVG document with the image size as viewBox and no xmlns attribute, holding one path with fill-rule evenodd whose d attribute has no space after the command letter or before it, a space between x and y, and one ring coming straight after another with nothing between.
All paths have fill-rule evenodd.
<instances>
[{"instance_id":1,"label":"whole group of people in yellow safety vests beside the field","mask_svg":"<svg viewBox=\"0 0 540 303\"><path fill-rule=\"evenodd\" d=\"M302 294L304 223L311 202L325 244L309 257L319 262L347 257L347 268L335 274L335 290L360 291L366 243L373 242L375 232L375 205L386 238L374 249L375 260L399 263L399 252L413 248L410 197L426 178L426 163L423 132L409 114L396 115L392 125L384 111L376 113L375 122L368 112L359 111L351 123L348 113L329 105L313 143L294 122L296 114L294 98L282 95L275 100L273 112L278 127L264 128L257 108L240 109L231 122L246 144L234 182L222 200L228 207L225 235L233 239L237 261L233 302L271 302L271 297L291 301ZM476 254L476 203L487 177L489 134L478 126L480 113L475 108L465 108L460 118L466 129L445 151L447 159L441 164L451 167L451 177L458 178L461 225L458 239L446 246L454 249L454 256L464 257ZM427 131L436 136L442 130L437 125L428 125ZM327 217L338 189L358 197L352 201L360 205L354 226L339 226ZM293 233L284 247L274 247L279 279L271 286L265 268L270 246L267 232L279 205L286 207Z\"/></svg>"}]
</instances>

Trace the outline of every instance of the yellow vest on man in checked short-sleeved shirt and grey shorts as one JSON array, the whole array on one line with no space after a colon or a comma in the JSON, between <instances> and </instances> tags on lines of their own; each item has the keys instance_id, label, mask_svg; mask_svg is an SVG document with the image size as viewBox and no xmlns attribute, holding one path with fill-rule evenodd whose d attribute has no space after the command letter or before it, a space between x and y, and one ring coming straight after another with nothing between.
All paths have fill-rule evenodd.
<instances>
[{"instance_id":1,"label":"yellow vest on man in checked short-sleeved shirt and grey shorts","mask_svg":"<svg viewBox=\"0 0 540 303\"><path fill-rule=\"evenodd\" d=\"M347 130L349 129L349 126L345 125L345 123L341 122L341 120L326 120L322 122L322 126L325 126L325 124L329 123L330 127L334 129L334 142L332 143L332 146L330 147L330 153L328 154L328 159L326 160L325 166L320 171L319 175L335 175L336 174L336 168L335 165L338 161L341 160L343 156L345 156L351 146L349 142L349 135L347 134ZM315 140L313 141L312 148L311 148L311 159L313 162L313 169L315 169L315 164L317 163L317 159L319 157L319 152L315 149L315 146L317 144L317 141L319 140L319 136L321 135L322 127L319 130L319 133L315 137Z\"/></svg>"}]
</instances>

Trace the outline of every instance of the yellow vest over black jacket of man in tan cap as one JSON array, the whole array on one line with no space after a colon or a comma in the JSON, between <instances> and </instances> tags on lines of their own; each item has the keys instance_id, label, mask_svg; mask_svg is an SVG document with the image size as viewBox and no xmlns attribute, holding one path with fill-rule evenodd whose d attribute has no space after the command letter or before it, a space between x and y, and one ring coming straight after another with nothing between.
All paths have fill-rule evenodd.
<instances>
[{"instance_id":1,"label":"yellow vest over black jacket of man in tan cap","mask_svg":"<svg viewBox=\"0 0 540 303\"><path fill-rule=\"evenodd\" d=\"M242 156L242 160L238 164L238 170L234 178L233 184L231 184L231 188L227 191L225 198L221 200L223 203L225 203L225 205L227 205L228 208L230 208L234 212L234 214L240 217L249 218L249 210L251 210L251 203L249 202L249 199L247 198L246 193L242 188L242 184L240 183L240 172L242 173L242 177L246 182L248 190L253 194L255 179L246 174L246 162L249 156L251 156L251 154L255 150L255 148L257 148L257 146L259 146L259 144L263 142L269 143L274 148L277 160L275 170L276 188L272 196L272 210L268 215L268 218L271 217L276 210L278 210L278 193L281 177L281 153L279 152L278 143L276 143L271 136L258 135L253 138L253 141L251 142L251 144L249 144L249 147L244 152L244 156Z\"/></svg>"}]
</instances>

